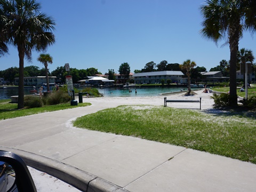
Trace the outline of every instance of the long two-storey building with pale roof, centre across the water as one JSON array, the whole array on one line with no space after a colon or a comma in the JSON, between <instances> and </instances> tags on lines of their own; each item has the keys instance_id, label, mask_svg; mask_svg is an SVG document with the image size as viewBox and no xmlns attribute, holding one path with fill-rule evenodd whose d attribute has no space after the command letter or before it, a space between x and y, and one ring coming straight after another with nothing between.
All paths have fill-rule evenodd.
<instances>
[{"instance_id":1,"label":"long two-storey building with pale roof, centre across the water","mask_svg":"<svg viewBox=\"0 0 256 192\"><path fill-rule=\"evenodd\" d=\"M133 74L135 84L161 84L161 79L171 79L172 83L187 83L187 78L182 78L184 74L181 71L154 71L146 73Z\"/></svg>"}]
</instances>

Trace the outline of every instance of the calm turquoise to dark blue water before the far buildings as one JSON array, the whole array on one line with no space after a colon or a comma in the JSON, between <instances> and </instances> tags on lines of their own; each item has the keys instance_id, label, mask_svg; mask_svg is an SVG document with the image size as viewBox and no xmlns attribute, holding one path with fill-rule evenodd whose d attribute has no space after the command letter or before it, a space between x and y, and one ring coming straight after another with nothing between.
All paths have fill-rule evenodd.
<instances>
[{"instance_id":1,"label":"calm turquoise to dark blue water before the far buildings","mask_svg":"<svg viewBox=\"0 0 256 192\"><path fill-rule=\"evenodd\" d=\"M135 93L135 89L137 89L137 94ZM129 89L125 88L99 88L99 92L104 94L105 97L146 97L146 96L157 96L160 93L169 93L180 91L180 89L186 89L186 87L175 88L167 88L167 87L131 87L132 92L129 92ZM25 94L34 94L30 93L32 90L31 87L24 88ZM112 94L111 94L112 93ZM8 89L0 89L0 99L11 99L11 96L18 95L18 87L8 88Z\"/></svg>"}]
</instances>

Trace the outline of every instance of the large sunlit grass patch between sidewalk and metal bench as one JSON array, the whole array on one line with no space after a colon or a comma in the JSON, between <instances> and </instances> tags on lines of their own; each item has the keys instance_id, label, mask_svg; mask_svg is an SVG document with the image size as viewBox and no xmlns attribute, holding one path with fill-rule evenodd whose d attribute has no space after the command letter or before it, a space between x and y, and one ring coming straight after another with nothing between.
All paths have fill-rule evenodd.
<instances>
[{"instance_id":1,"label":"large sunlit grass patch between sidewalk and metal bench","mask_svg":"<svg viewBox=\"0 0 256 192\"><path fill-rule=\"evenodd\" d=\"M205 114L153 106L120 106L77 118L74 125L207 151L256 164L255 113Z\"/></svg>"}]
</instances>

